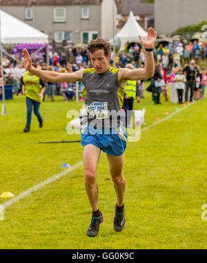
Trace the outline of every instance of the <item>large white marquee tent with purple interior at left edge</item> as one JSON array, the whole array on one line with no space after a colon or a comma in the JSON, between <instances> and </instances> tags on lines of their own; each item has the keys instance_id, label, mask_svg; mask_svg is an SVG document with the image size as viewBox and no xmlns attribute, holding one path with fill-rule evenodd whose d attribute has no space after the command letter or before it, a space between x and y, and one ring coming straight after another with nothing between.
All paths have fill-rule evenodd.
<instances>
[{"instance_id":1,"label":"large white marquee tent with purple interior at left edge","mask_svg":"<svg viewBox=\"0 0 207 263\"><path fill-rule=\"evenodd\" d=\"M31 44L45 43L48 50L48 35L24 23L23 21L12 17L12 15L0 10L0 49L2 65L2 45L4 44ZM47 52L48 53L48 52ZM48 56L48 54L47 54ZM48 60L48 59L47 59ZM1 68L1 75L3 70ZM6 114L4 83L2 81L3 105L1 115Z\"/></svg>"}]
</instances>

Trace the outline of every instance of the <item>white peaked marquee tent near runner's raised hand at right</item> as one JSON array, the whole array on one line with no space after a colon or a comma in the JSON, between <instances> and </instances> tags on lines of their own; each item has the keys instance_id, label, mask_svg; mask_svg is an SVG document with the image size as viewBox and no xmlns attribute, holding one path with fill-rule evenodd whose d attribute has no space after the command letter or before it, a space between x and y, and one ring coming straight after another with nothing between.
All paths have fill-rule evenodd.
<instances>
[{"instance_id":1,"label":"white peaked marquee tent near runner's raised hand at right","mask_svg":"<svg viewBox=\"0 0 207 263\"><path fill-rule=\"evenodd\" d=\"M116 34L116 36L119 37L121 41L121 50L123 50L124 45L126 44L127 41L139 43L138 36L145 38L147 34L148 33L143 28L141 28L139 23L137 23L133 12L130 11L128 20L126 21L124 27L121 28L118 34Z\"/></svg>"}]
</instances>

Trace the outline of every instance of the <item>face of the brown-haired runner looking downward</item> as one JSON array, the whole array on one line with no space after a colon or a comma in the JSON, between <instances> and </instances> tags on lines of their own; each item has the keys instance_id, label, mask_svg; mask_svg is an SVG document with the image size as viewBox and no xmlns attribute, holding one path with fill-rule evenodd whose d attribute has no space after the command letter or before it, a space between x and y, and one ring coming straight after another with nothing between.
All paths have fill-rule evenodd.
<instances>
[{"instance_id":1,"label":"face of the brown-haired runner looking downward","mask_svg":"<svg viewBox=\"0 0 207 263\"><path fill-rule=\"evenodd\" d=\"M110 54L106 57L103 49L90 53L91 63L93 67L95 67L95 71L99 74L106 72L108 69L109 58Z\"/></svg>"}]
</instances>

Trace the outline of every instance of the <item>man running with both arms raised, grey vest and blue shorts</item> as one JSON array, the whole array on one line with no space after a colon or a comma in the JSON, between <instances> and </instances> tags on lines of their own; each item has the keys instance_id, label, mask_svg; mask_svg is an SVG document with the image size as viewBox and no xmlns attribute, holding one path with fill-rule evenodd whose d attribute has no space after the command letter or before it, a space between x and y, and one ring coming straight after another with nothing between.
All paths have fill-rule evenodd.
<instances>
[{"instance_id":1,"label":"man running with both arms raised, grey vest and blue shorts","mask_svg":"<svg viewBox=\"0 0 207 263\"><path fill-rule=\"evenodd\" d=\"M86 112L92 118L85 130L81 131L81 145L83 149L83 164L85 169L85 188L88 200L92 207L92 220L88 227L87 235L95 237L99 234L99 225L103 222L103 215L99 211L98 206L98 187L96 181L96 171L101 149L106 152L110 175L114 182L117 194L117 204L115 207L114 229L121 231L124 229L124 193L126 189L126 180L123 176L124 151L126 149L126 131L113 121L113 116L109 118L107 112L119 112L124 99L124 87L126 81L137 81L144 78L151 78L154 74L155 62L153 57L153 47L157 33L152 29L148 29L146 39L139 39L146 50L145 67L138 70L129 70L126 68L117 69L109 67L110 60L110 43L101 38L90 41L88 44L88 52L93 68L86 70L78 70L73 73L58 73L39 70L32 67L32 60L26 49L23 50L24 66L26 70L34 75L43 78L52 83L75 82L82 81L86 92ZM99 114L97 114L99 112ZM86 116L83 116L82 122ZM103 127L103 120L110 119L107 127ZM108 129L109 133L105 134L97 132L91 123L96 120L97 131L101 128ZM106 121L107 123L107 121ZM117 127L115 126L117 125ZM102 130L103 130L102 129ZM114 131L117 129L117 134Z\"/></svg>"}]
</instances>

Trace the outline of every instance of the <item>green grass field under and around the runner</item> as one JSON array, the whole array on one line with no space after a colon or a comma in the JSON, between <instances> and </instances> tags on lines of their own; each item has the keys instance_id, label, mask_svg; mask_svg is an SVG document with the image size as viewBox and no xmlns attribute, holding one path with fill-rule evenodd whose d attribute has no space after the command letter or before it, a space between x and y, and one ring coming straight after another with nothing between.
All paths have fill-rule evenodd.
<instances>
[{"instance_id":1,"label":"green grass field under and around the runner","mask_svg":"<svg viewBox=\"0 0 207 263\"><path fill-rule=\"evenodd\" d=\"M164 98L161 98L164 102ZM105 154L97 170L99 208L104 221L97 238L88 238L91 209L84 189L83 165L4 211L0 221L0 249L206 249L207 114L204 99L172 118L141 133L128 143L125 155L126 227L112 227L115 191ZM40 140L79 140L66 133L66 113L82 103L46 100L40 111L44 126L32 116L31 130L23 133L26 104L23 96L6 101L8 115L0 116L0 194L15 196L64 171L61 165L82 160L80 143L39 144ZM0 103L1 107L1 103ZM146 108L146 126L163 119L164 112L181 107L153 105L151 94L135 109ZM0 198L3 204L9 198Z\"/></svg>"}]
</instances>

